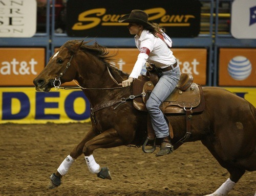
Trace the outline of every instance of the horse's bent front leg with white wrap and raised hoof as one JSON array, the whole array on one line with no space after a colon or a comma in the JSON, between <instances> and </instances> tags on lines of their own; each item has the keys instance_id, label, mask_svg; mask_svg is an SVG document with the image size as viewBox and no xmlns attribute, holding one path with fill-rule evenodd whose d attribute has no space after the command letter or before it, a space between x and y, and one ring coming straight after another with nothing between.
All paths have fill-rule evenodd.
<instances>
[{"instance_id":1,"label":"horse's bent front leg with white wrap and raised hoof","mask_svg":"<svg viewBox=\"0 0 256 196\"><path fill-rule=\"evenodd\" d=\"M84 158L86 159L87 166L92 174L97 174L99 178L110 179L111 175L108 167L100 167L96 163L93 157L93 151L99 148L113 148L116 146L123 145L123 140L120 138L120 135L114 129L109 129L104 131L100 135L97 135L90 141L86 142L83 148Z\"/></svg>"}]
</instances>

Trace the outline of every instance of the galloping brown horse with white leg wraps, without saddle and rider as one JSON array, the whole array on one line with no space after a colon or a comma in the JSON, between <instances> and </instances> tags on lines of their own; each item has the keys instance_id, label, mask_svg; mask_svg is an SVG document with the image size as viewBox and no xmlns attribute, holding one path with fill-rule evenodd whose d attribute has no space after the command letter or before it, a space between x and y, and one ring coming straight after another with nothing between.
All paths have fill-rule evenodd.
<instances>
[{"instance_id":1,"label":"galloping brown horse with white leg wraps, without saddle and rider","mask_svg":"<svg viewBox=\"0 0 256 196\"><path fill-rule=\"evenodd\" d=\"M110 104L111 100L122 100L118 107L110 104L93 112L91 130L51 175L50 188L60 185L61 177L82 154L91 173L111 179L109 169L101 168L94 160L94 150L141 145L145 139L147 112L136 110L131 101L123 99L132 95L132 86L118 86L128 75L112 66L111 58L113 56L108 50L97 43L89 45L78 40L67 41L33 81L37 91L49 91L75 79L89 99L91 108ZM229 179L209 194L227 195L246 170L256 170L256 109L222 88L203 87L203 93L205 110L193 115L191 136L187 141L201 140L220 165L228 170ZM186 134L186 117L167 117L174 130L172 143L175 144Z\"/></svg>"}]
</instances>

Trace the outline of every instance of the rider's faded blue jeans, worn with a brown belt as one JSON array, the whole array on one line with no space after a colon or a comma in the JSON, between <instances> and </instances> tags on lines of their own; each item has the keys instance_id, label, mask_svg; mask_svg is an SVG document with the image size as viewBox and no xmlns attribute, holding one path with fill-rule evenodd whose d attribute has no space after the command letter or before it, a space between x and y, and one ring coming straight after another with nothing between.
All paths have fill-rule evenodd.
<instances>
[{"instance_id":1,"label":"rider's faded blue jeans, worn with a brown belt","mask_svg":"<svg viewBox=\"0 0 256 196\"><path fill-rule=\"evenodd\" d=\"M156 137L163 138L169 135L169 127L159 106L177 86L180 80L180 67L177 65L174 69L161 72L158 75L159 81L146 102L146 108L151 116Z\"/></svg>"}]
</instances>

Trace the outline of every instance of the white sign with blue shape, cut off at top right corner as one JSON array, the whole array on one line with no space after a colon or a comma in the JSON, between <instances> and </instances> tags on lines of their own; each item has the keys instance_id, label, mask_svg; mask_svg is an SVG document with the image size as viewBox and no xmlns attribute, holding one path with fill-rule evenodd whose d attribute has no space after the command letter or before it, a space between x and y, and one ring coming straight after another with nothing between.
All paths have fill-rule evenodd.
<instances>
[{"instance_id":1,"label":"white sign with blue shape, cut off at top right corner","mask_svg":"<svg viewBox=\"0 0 256 196\"><path fill-rule=\"evenodd\" d=\"M245 3L246 2L246 3ZM237 39L256 39L256 1L235 0L231 10L231 34Z\"/></svg>"}]
</instances>

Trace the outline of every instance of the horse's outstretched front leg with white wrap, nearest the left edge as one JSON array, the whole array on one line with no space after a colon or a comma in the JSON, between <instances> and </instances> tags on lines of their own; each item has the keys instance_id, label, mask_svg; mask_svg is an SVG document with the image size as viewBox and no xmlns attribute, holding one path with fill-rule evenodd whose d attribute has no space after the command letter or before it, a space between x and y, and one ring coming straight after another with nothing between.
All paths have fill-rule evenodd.
<instances>
[{"instance_id":1,"label":"horse's outstretched front leg with white wrap, nearest the left edge","mask_svg":"<svg viewBox=\"0 0 256 196\"><path fill-rule=\"evenodd\" d=\"M86 142L97 134L93 129L91 129L86 136L82 139L82 141L71 151L71 153L62 161L59 165L56 173L53 173L50 176L50 184L49 188L55 188L61 184L61 178L68 173L68 170L72 163L82 154L82 150Z\"/></svg>"}]
</instances>

